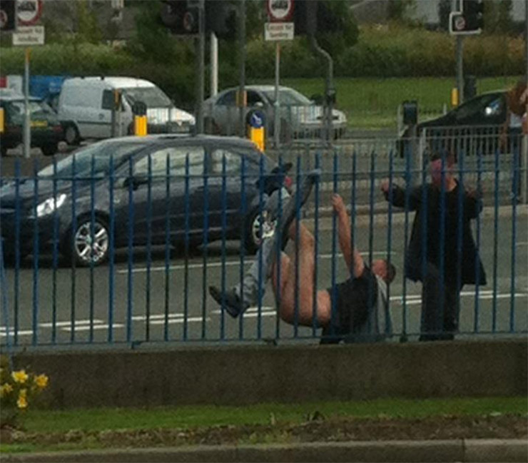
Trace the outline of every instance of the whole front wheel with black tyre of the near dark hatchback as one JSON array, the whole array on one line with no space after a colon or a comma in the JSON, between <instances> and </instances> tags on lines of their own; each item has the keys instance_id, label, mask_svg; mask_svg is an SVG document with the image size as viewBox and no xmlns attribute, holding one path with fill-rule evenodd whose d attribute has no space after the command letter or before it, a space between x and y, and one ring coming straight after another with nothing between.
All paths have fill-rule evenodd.
<instances>
[{"instance_id":1,"label":"whole front wheel with black tyre of the near dark hatchback","mask_svg":"<svg viewBox=\"0 0 528 463\"><path fill-rule=\"evenodd\" d=\"M72 241L73 240L73 241ZM68 232L66 255L70 262L78 267L97 266L108 260L110 250L110 232L108 223L96 215L93 220L93 242L91 236L91 215L78 218L75 233Z\"/></svg>"}]
</instances>

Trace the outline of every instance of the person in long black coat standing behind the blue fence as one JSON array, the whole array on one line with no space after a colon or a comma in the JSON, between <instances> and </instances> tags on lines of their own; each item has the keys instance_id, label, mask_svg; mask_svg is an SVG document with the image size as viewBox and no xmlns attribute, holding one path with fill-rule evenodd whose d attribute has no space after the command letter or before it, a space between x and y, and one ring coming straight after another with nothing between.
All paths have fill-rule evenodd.
<instances>
[{"instance_id":1,"label":"person in long black coat standing behind the blue fence","mask_svg":"<svg viewBox=\"0 0 528 463\"><path fill-rule=\"evenodd\" d=\"M460 290L464 285L486 284L470 222L481 212L482 200L475 191L464 190L454 178L454 164L452 156L444 160L433 156L431 183L408 192L393 185L390 193L388 180L381 185L392 205L407 205L407 210L416 211L405 276L422 282L421 341L454 339Z\"/></svg>"}]
</instances>

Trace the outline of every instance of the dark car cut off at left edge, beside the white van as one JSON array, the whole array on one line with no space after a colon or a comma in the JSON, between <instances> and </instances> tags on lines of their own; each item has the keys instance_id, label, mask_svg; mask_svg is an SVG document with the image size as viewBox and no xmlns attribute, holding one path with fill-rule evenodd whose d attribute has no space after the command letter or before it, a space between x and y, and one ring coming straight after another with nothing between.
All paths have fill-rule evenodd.
<instances>
[{"instance_id":1,"label":"dark car cut off at left edge, beside the white van","mask_svg":"<svg viewBox=\"0 0 528 463\"><path fill-rule=\"evenodd\" d=\"M0 90L0 107L4 109L4 131L0 133L1 156L16 148L24 140L24 96L9 90ZM64 138L56 113L39 98L29 98L31 118L31 146L41 148L45 156L54 155L59 141Z\"/></svg>"}]
</instances>

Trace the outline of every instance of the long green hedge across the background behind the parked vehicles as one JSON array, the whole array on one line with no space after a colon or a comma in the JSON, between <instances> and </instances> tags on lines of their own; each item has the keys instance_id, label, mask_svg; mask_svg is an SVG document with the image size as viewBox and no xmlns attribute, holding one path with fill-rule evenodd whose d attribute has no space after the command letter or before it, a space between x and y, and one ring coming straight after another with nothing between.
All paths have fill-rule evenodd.
<instances>
[{"instance_id":1,"label":"long green hedge across the background behind the parked vehicles","mask_svg":"<svg viewBox=\"0 0 528 463\"><path fill-rule=\"evenodd\" d=\"M154 37L150 50L133 42L123 49L106 45L49 44L34 47L31 73L121 75L147 78L158 83L180 106L194 101L196 66L191 41ZM143 46L144 47L144 46ZM161 60L161 57L166 57ZM275 75L275 44L257 39L246 45L248 80ZM238 83L236 44L220 43L220 88ZM303 38L281 45L281 78L325 76L325 63ZM2 47L0 72L24 71L24 49ZM522 37L472 36L464 39L464 72L478 77L522 75L525 71ZM455 38L425 29L398 26L362 27L357 44L335 56L336 77L421 77L455 74ZM205 79L206 84L208 78Z\"/></svg>"}]
</instances>

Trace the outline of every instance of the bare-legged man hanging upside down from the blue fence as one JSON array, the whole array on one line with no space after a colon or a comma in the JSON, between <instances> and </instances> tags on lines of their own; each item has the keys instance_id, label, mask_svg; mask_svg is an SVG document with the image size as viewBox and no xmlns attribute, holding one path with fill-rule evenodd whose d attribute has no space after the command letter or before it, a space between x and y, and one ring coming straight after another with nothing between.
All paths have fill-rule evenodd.
<instances>
[{"instance_id":1,"label":"bare-legged man hanging upside down from the blue fence","mask_svg":"<svg viewBox=\"0 0 528 463\"><path fill-rule=\"evenodd\" d=\"M310 177L308 177L301 191L303 193L302 202L308 198L310 189ZM323 328L323 343L335 343L341 340L379 340L390 334L387 284L395 278L394 265L386 260L375 260L372 262L372 268L365 265L359 251L356 248L352 249L350 219L345 203L340 195L336 194L332 197L332 206L337 214L340 248L350 271L350 278L343 283L337 283L335 287L328 290L314 291L315 238L305 225L293 223L295 219L293 206L295 206L295 197L292 197L285 206L285 220L279 233L286 235L285 240L287 238L296 240L298 235L298 246L295 246L298 248L298 259L295 255L289 258L285 253L281 253L280 267L276 265L274 258L278 253L271 242L276 244L280 234L275 233L275 240L270 240L267 244L271 247L268 248L270 252L267 253L269 259L265 260L266 272L263 271L266 278L262 278L263 287L267 283L268 276L271 275L273 278L273 290L275 299L278 300L280 317L290 324L296 322L298 325L309 327L313 326L315 320L315 326ZM297 225L299 226L298 232ZM298 262L298 268L295 268L296 262ZM296 275L298 275L298 280ZM255 278L253 282L255 282L254 285L258 285ZM225 308L229 307L228 312L231 315L233 315L232 312L238 315L250 303L258 302L258 299L247 301L243 307L240 307L240 287L233 288L224 295L218 288L210 287L209 289L210 294L220 305L223 304ZM258 295L258 289L253 292L247 290L244 293ZM295 307L296 300L298 300L297 308Z\"/></svg>"}]
</instances>

